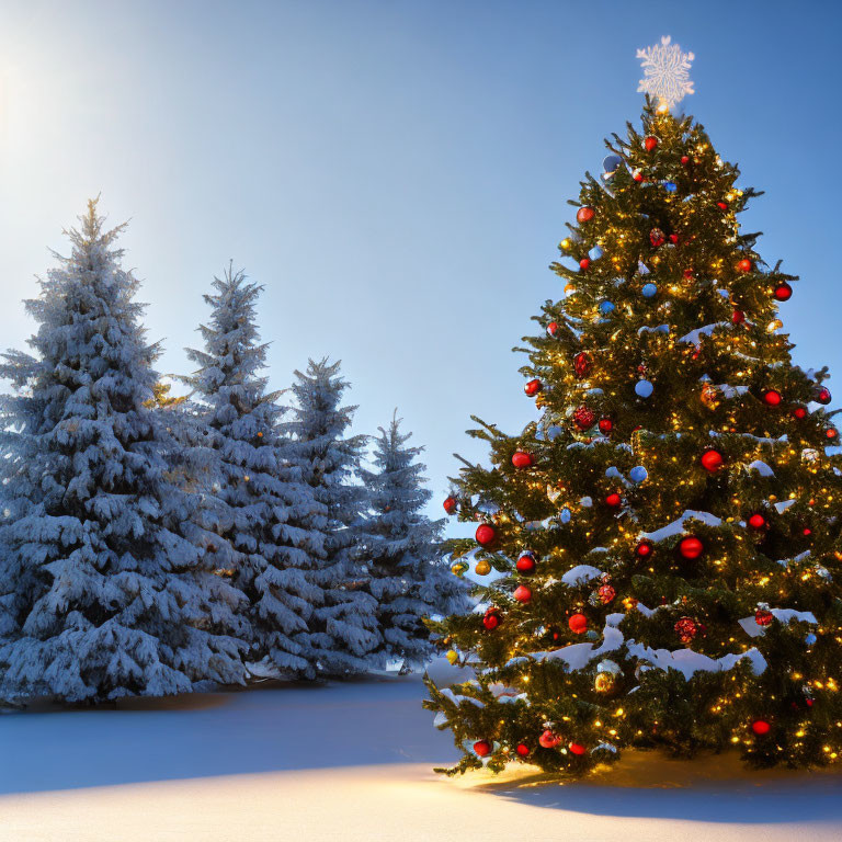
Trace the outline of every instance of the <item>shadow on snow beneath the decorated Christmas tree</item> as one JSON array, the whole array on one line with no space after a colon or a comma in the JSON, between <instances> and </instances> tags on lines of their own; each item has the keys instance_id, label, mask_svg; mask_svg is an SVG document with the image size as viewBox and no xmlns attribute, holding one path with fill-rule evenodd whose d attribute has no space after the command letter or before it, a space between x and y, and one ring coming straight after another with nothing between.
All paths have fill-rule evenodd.
<instances>
[{"instance_id":1,"label":"shadow on snow beneath the decorated Christmas tree","mask_svg":"<svg viewBox=\"0 0 842 842\"><path fill-rule=\"evenodd\" d=\"M470 788L533 807L595 816L746 824L842 821L842 773L752 771L736 752L693 761L624 752L617 766L582 781L514 773Z\"/></svg>"}]
</instances>

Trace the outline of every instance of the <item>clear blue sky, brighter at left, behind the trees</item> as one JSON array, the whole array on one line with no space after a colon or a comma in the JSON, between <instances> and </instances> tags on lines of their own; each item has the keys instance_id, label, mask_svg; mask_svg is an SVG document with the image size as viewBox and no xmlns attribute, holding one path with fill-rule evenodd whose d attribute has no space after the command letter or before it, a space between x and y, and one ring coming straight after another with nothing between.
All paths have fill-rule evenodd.
<instances>
[{"instance_id":1,"label":"clear blue sky, brighter at left, behind the trees","mask_svg":"<svg viewBox=\"0 0 842 842\"><path fill-rule=\"evenodd\" d=\"M639 116L635 50L669 34L686 111L766 191L746 229L801 275L796 361L840 379L840 24L831 0L0 0L0 346L101 192L162 371L232 258L265 285L272 385L341 359L356 429L398 407L441 512L451 454L482 453L469 414L534 414L511 348L561 295L567 200Z\"/></svg>"}]
</instances>

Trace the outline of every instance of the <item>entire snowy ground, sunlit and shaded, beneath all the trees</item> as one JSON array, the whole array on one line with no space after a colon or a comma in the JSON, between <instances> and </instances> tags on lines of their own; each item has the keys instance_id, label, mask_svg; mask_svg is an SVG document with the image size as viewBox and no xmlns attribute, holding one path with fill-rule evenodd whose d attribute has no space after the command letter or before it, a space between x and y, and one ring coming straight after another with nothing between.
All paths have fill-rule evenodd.
<instances>
[{"instance_id":1,"label":"entire snowy ground, sunlit and shaded, beneath all the trees","mask_svg":"<svg viewBox=\"0 0 842 842\"><path fill-rule=\"evenodd\" d=\"M441 667L439 668L441 671ZM420 679L0 716L0 840L842 839L842 775L637 754L587 783L451 781Z\"/></svg>"}]
</instances>

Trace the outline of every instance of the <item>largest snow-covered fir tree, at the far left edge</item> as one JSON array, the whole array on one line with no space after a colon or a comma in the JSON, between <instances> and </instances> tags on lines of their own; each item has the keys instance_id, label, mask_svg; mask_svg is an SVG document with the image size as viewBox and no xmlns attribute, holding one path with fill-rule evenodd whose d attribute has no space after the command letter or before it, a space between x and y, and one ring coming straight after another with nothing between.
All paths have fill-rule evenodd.
<instances>
[{"instance_id":1,"label":"largest snow-covered fir tree, at the far left edge","mask_svg":"<svg viewBox=\"0 0 842 842\"><path fill-rule=\"evenodd\" d=\"M3 396L0 697L69 702L242 680L241 598L208 569L196 497L170 481L148 406L157 345L121 268L122 227L89 203L26 301L35 355Z\"/></svg>"}]
</instances>

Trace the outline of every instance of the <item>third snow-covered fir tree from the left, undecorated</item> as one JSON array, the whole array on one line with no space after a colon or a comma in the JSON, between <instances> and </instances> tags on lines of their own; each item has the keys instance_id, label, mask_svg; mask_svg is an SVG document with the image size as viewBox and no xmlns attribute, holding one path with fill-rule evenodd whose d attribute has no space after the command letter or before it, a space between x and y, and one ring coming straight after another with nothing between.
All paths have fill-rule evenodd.
<instances>
[{"instance_id":1,"label":"third snow-covered fir tree from the left, undecorated","mask_svg":"<svg viewBox=\"0 0 842 842\"><path fill-rule=\"evenodd\" d=\"M291 408L292 420L283 424L292 440L286 446L287 468L298 471L322 507L320 515L305 521L323 535L322 547L305 573L321 594L308 629L296 636L314 664L310 676L365 672L380 640L377 602L366 592L365 574L356 562L354 527L365 494L354 480L366 436L345 436L356 407L340 406L348 383L339 368L339 362L325 359L310 360L304 374L295 372L296 405Z\"/></svg>"}]
</instances>

